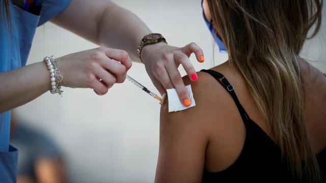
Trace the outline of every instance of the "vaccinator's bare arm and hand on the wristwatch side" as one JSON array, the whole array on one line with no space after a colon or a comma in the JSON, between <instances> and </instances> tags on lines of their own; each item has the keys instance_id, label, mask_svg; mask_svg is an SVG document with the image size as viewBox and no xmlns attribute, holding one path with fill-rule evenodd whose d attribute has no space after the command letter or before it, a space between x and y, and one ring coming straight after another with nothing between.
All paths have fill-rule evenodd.
<instances>
[{"instance_id":1,"label":"vaccinator's bare arm and hand on the wristwatch side","mask_svg":"<svg viewBox=\"0 0 326 183\"><path fill-rule=\"evenodd\" d=\"M51 21L96 44L125 50L137 62L140 62L138 45L151 33L141 19L110 0L71 0L70 5ZM204 62L203 51L194 43L182 48L164 42L144 47L142 61L161 94L174 87L181 101L189 100L177 68L181 64L189 78L196 80L196 70L189 60L192 53L199 62ZM112 55L107 56L112 58Z\"/></svg>"}]
</instances>

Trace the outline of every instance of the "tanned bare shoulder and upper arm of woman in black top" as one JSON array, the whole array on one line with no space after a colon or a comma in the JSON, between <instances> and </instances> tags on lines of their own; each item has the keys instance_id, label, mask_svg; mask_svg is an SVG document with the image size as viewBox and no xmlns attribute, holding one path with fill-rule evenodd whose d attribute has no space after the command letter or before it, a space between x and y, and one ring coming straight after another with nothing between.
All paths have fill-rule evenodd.
<instances>
[{"instance_id":1,"label":"tanned bare shoulder and upper arm of woman in black top","mask_svg":"<svg viewBox=\"0 0 326 183\"><path fill-rule=\"evenodd\" d=\"M212 70L238 81L225 66ZM225 155L235 147L240 151L244 143L244 127L232 97L210 74L197 75L197 81L183 77L185 85L192 85L195 107L169 113L168 98L161 106L155 182L200 182L207 160L221 166Z\"/></svg>"}]
</instances>

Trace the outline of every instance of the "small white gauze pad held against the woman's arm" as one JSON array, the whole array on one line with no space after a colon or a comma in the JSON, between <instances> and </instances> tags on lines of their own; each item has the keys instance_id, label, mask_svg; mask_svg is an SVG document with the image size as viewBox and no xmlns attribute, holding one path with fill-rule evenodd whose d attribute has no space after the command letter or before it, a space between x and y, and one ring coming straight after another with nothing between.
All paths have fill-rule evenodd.
<instances>
[{"instance_id":1,"label":"small white gauze pad held against the woman's arm","mask_svg":"<svg viewBox=\"0 0 326 183\"><path fill-rule=\"evenodd\" d=\"M186 88L187 88L190 100L192 102L192 104L188 107L184 106L181 103L176 89L174 89L174 88L167 89L168 99L169 99L169 112L177 112L177 111L181 111L181 110L196 106L193 91L192 91L192 86L189 84L186 86Z\"/></svg>"}]
</instances>

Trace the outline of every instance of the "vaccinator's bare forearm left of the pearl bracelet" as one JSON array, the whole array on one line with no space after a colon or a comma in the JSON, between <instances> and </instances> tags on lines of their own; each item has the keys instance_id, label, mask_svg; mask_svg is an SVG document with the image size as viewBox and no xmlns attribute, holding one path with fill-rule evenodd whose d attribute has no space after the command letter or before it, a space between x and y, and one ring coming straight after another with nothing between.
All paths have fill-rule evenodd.
<instances>
[{"instance_id":1,"label":"vaccinator's bare forearm left of the pearl bracelet","mask_svg":"<svg viewBox=\"0 0 326 183\"><path fill-rule=\"evenodd\" d=\"M44 63L0 73L0 113L28 103L49 89L50 73Z\"/></svg>"}]
</instances>

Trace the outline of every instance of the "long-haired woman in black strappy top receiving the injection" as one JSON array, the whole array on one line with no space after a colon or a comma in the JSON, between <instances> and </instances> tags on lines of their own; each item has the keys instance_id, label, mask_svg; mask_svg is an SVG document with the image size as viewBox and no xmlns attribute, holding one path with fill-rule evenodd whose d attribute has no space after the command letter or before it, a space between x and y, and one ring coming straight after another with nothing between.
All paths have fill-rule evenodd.
<instances>
[{"instance_id":1,"label":"long-haired woman in black strappy top receiving the injection","mask_svg":"<svg viewBox=\"0 0 326 183\"><path fill-rule=\"evenodd\" d=\"M161 107L155 182L324 182L326 78L298 54L322 1L204 0L229 60L198 72L196 107ZM224 43L222 45L221 43Z\"/></svg>"}]
</instances>

